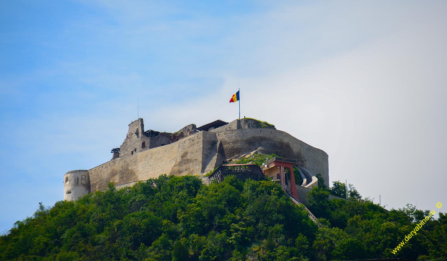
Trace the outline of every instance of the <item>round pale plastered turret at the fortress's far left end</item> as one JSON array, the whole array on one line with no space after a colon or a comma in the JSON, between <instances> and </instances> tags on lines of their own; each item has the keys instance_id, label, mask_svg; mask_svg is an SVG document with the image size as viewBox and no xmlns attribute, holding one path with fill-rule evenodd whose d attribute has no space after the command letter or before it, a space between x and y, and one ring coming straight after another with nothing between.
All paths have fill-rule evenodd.
<instances>
[{"instance_id":1,"label":"round pale plastered turret at the fortress's far left end","mask_svg":"<svg viewBox=\"0 0 447 261\"><path fill-rule=\"evenodd\" d=\"M90 193L88 170L72 170L63 175L63 199L75 201Z\"/></svg>"}]
</instances>

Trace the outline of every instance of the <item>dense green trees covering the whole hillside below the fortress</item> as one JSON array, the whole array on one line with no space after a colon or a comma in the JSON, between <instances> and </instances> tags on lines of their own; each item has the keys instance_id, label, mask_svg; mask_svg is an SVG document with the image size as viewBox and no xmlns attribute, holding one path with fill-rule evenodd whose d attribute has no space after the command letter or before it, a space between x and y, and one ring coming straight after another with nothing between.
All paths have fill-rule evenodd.
<instances>
[{"instance_id":1,"label":"dense green trees covering the whole hillside below the fortress","mask_svg":"<svg viewBox=\"0 0 447 261\"><path fill-rule=\"evenodd\" d=\"M430 220L391 253L426 213L386 211L371 202L328 199L313 189L309 208L276 184L230 176L205 186L194 176L162 175L133 187L112 184L78 201L59 201L0 237L1 260L346 260L446 257L447 217Z\"/></svg>"}]
</instances>

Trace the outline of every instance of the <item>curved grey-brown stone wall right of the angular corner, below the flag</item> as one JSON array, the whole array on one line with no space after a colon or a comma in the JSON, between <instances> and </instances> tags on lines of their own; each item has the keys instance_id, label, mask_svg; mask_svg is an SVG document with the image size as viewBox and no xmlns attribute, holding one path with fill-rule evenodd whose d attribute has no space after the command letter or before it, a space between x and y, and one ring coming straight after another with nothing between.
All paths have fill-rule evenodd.
<instances>
[{"instance_id":1,"label":"curved grey-brown stone wall right of the angular corner, below the flag","mask_svg":"<svg viewBox=\"0 0 447 261\"><path fill-rule=\"evenodd\" d=\"M258 149L260 153L275 153L282 157L296 159L313 174L320 173L329 186L328 154L291 136L271 128L235 129L216 133L222 142L227 158L246 154Z\"/></svg>"}]
</instances>

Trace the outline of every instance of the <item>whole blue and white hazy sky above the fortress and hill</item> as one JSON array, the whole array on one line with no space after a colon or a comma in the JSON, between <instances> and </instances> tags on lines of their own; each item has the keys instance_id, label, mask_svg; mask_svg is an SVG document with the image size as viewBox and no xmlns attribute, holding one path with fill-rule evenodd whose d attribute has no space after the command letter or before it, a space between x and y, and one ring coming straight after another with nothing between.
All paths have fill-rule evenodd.
<instances>
[{"instance_id":1,"label":"whole blue and white hazy sky above the fortress and hill","mask_svg":"<svg viewBox=\"0 0 447 261\"><path fill-rule=\"evenodd\" d=\"M447 211L446 1L2 1L0 231L110 160L127 124L241 116L364 197Z\"/></svg>"}]
</instances>

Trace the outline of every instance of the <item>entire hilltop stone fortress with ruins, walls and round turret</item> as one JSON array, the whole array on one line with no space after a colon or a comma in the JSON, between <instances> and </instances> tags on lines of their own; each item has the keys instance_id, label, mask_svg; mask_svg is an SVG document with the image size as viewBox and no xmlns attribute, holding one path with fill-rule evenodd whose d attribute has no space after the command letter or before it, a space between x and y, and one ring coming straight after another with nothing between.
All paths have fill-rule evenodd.
<instances>
[{"instance_id":1,"label":"entire hilltop stone fortress with ruins, walls and round turret","mask_svg":"<svg viewBox=\"0 0 447 261\"><path fill-rule=\"evenodd\" d=\"M295 159L304 180L303 185L297 185L300 200L305 200L310 187L317 186L314 174L321 174L329 186L327 153L273 125L261 125L250 118L230 123L215 120L198 128L190 124L175 133L145 131L140 118L129 124L122 145L112 149L112 153L109 162L90 170L68 171L63 178L64 199L76 200L90 192L105 190L109 182L119 188L160 174L203 175L229 159L250 153L275 153Z\"/></svg>"}]
</instances>

